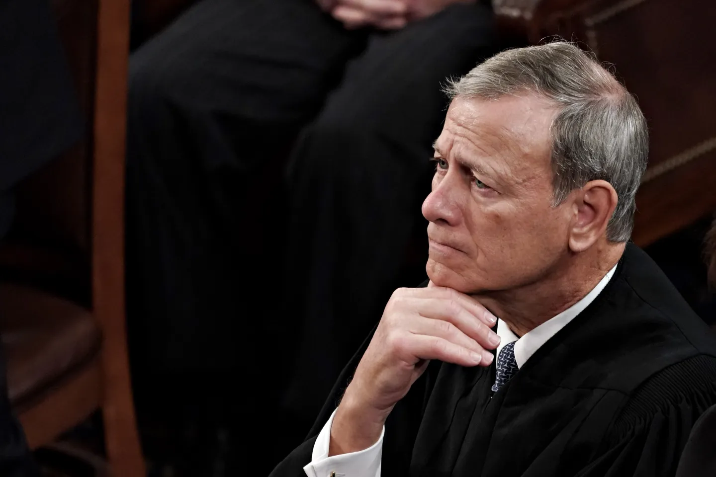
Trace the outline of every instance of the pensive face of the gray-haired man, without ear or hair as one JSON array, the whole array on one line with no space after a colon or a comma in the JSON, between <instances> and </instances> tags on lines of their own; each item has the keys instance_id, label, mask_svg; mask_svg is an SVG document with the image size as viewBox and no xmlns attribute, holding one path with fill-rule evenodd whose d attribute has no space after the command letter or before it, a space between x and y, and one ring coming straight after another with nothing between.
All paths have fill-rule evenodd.
<instances>
[{"instance_id":1,"label":"pensive face of the gray-haired man, without ear or hair","mask_svg":"<svg viewBox=\"0 0 716 477\"><path fill-rule=\"evenodd\" d=\"M568 250L571 206L552 207L543 99L455 99L435 142L426 270L460 292L511 290L553 272Z\"/></svg>"}]
</instances>

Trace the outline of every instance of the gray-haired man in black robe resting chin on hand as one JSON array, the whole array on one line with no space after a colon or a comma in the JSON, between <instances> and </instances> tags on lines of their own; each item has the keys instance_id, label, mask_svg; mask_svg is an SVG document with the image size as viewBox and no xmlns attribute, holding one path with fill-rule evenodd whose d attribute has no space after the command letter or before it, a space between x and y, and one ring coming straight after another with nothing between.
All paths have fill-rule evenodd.
<instances>
[{"instance_id":1,"label":"gray-haired man in black robe resting chin on hand","mask_svg":"<svg viewBox=\"0 0 716 477\"><path fill-rule=\"evenodd\" d=\"M716 403L716 343L628 243L637 102L566 42L503 51L448 93L429 280L393 293L272 475L674 475Z\"/></svg>"}]
</instances>

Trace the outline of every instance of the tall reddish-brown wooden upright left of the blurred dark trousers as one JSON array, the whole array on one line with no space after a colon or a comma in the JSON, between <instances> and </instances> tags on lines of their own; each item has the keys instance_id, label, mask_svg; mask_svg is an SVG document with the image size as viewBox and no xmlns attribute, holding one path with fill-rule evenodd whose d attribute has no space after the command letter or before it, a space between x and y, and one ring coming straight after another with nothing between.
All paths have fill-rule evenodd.
<instances>
[{"instance_id":1,"label":"tall reddish-brown wooden upright left of the blurred dark trousers","mask_svg":"<svg viewBox=\"0 0 716 477\"><path fill-rule=\"evenodd\" d=\"M137 434L125 320L125 128L130 1L100 0L97 15L94 170L92 172L92 312L102 347L105 446L116 476L145 473Z\"/></svg>"}]
</instances>

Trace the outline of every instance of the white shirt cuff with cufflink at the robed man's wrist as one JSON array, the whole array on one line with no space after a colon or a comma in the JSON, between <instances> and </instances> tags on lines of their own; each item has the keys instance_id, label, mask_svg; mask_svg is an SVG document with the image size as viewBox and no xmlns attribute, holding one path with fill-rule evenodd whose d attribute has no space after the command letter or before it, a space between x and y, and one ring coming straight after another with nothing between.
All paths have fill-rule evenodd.
<instances>
[{"instance_id":1,"label":"white shirt cuff with cufflink at the robed man's wrist","mask_svg":"<svg viewBox=\"0 0 716 477\"><path fill-rule=\"evenodd\" d=\"M311 462L304 467L306 476L331 477L332 473L335 472L336 477L380 477L385 426L380 432L380 438L377 443L374 443L369 448L329 457L328 449L331 445L331 426L334 415L336 415L335 410L316 438Z\"/></svg>"}]
</instances>

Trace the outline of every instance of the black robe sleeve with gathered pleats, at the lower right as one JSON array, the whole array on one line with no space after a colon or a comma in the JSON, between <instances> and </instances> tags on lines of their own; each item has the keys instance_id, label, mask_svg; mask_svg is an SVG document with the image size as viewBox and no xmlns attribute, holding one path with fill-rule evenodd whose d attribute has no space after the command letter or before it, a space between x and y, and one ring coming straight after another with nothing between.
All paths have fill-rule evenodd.
<instances>
[{"instance_id":1,"label":"black robe sleeve with gathered pleats, at the lower right","mask_svg":"<svg viewBox=\"0 0 716 477\"><path fill-rule=\"evenodd\" d=\"M674 476L692 428L715 403L716 358L700 355L663 370L627 400L603 451L577 475Z\"/></svg>"}]
</instances>

